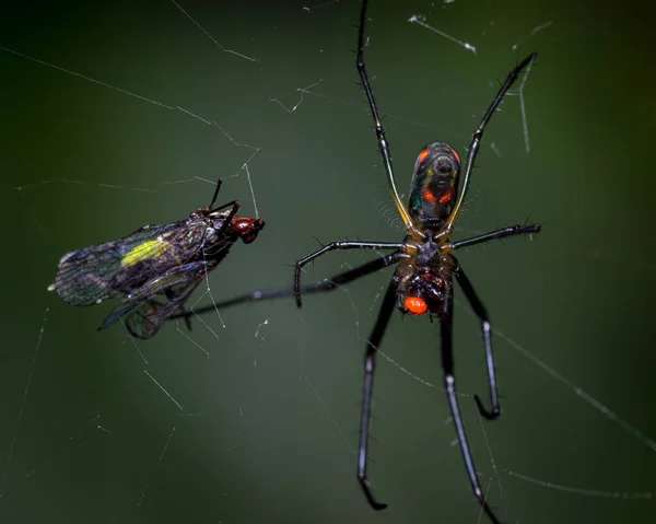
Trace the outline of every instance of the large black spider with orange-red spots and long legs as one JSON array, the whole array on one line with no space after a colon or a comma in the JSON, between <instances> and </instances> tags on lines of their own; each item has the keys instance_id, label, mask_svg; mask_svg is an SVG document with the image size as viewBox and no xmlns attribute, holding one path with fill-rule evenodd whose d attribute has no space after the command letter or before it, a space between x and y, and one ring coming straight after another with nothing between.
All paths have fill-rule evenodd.
<instances>
[{"instance_id":1,"label":"large black spider with orange-red spots and long legs","mask_svg":"<svg viewBox=\"0 0 656 524\"><path fill-rule=\"evenodd\" d=\"M501 415L496 373L494 371L494 358L492 353L492 327L483 303L476 293L473 286L467 278L462 267L453 255L453 252L461 247L481 244L494 238L538 233L540 231L540 225L518 224L506 226L460 241L450 241L450 235L462 209L462 202L467 194L473 163L479 151L483 131L503 97L515 80L517 80L519 73L532 63L537 55L535 53L531 54L509 72L492 101L492 104L483 115L481 123L476 128L465 160L461 187L458 187L461 165L458 153L456 153L454 148L447 143L429 143L421 150L414 163L414 172L410 186L410 198L408 207L406 208L396 189L389 143L385 137L385 129L380 124L378 108L374 100L364 63L364 30L367 3L367 0L363 0L361 5L360 26L358 31L356 68L374 119L378 149L383 156L391 198L407 228L406 237L402 242L331 242L296 261L293 290L255 291L202 310L196 310L196 312L187 312L176 316L188 318L190 315L200 314L206 311L215 311L215 308L227 307L244 302L290 296L292 294L296 299L297 306L301 307L303 294L331 291L344 283L396 264L396 271L387 286L387 291L385 292L378 317L365 346L364 386L362 393L363 403L360 418L360 443L358 449L358 480L364 491L366 500L373 509L383 510L387 506L387 504L380 503L374 498L371 482L367 477L367 450L376 352L380 347L385 329L387 328L395 305L403 314L422 315L429 313L431 318L436 316L440 319L444 391L455 422L458 442L465 461L465 468L467 469L467 475L469 477L469 485L485 514L493 523L499 523L500 521L488 504L483 490L481 489L481 484L473 466L469 444L467 443L467 435L460 417L458 398L456 396L453 354L454 277L465 293L473 312L478 316L481 325L485 363L488 368L491 408L487 409L478 395L475 395L473 398L480 415L489 420L493 420ZM339 273L330 279L326 279L323 282L302 286L301 275L303 268L317 257L333 249L391 249L393 253L349 271Z\"/></svg>"}]
</instances>

